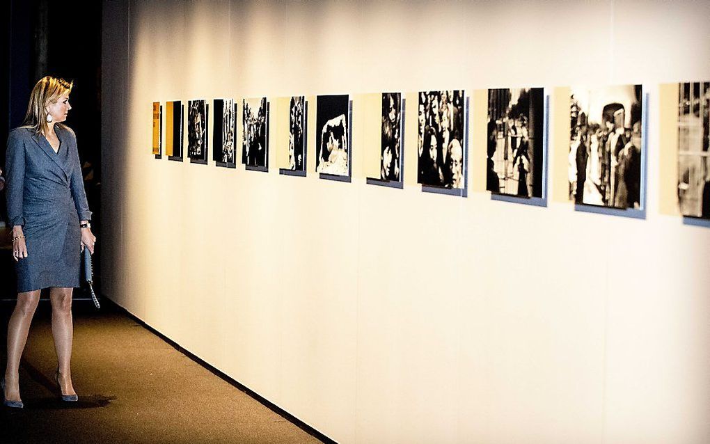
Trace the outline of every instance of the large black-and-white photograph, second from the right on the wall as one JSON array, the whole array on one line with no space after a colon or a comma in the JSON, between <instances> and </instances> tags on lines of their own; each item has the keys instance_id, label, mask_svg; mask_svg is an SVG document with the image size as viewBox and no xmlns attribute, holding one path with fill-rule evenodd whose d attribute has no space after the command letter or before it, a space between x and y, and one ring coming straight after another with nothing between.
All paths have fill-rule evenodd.
<instances>
[{"instance_id":1,"label":"large black-and-white photograph, second from the right on the wall","mask_svg":"<svg viewBox=\"0 0 710 444\"><path fill-rule=\"evenodd\" d=\"M569 104L569 199L641 207L641 85L573 87Z\"/></svg>"}]
</instances>

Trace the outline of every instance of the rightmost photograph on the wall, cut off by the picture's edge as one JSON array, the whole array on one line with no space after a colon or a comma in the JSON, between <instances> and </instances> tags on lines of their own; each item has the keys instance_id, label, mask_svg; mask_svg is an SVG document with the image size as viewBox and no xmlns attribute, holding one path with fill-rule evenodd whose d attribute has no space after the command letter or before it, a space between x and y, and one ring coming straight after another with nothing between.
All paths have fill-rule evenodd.
<instances>
[{"instance_id":1,"label":"rightmost photograph on the wall, cut off by the picture's edge","mask_svg":"<svg viewBox=\"0 0 710 444\"><path fill-rule=\"evenodd\" d=\"M681 83L678 96L680 212L710 219L710 82Z\"/></svg>"}]
</instances>

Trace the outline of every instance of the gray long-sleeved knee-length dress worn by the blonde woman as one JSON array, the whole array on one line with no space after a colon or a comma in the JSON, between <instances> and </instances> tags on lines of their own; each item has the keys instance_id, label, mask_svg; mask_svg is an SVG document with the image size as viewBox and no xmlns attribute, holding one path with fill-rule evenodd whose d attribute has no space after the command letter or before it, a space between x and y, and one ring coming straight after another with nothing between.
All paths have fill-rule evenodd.
<instances>
[{"instance_id":1,"label":"gray long-sleeved knee-length dress worn by the blonde woman","mask_svg":"<svg viewBox=\"0 0 710 444\"><path fill-rule=\"evenodd\" d=\"M7 212L22 225L27 257L17 262L17 291L80 285L80 220L91 220L77 138L55 124L55 153L45 136L28 128L10 131L6 157Z\"/></svg>"}]
</instances>

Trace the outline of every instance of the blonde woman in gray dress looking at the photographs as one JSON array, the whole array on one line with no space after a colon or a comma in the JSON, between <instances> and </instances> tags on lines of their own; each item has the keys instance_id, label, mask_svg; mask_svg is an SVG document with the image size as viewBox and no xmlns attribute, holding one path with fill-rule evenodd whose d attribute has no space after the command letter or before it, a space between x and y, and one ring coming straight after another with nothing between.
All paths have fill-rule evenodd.
<instances>
[{"instance_id":1,"label":"blonde woman in gray dress looking at the photographs","mask_svg":"<svg viewBox=\"0 0 710 444\"><path fill-rule=\"evenodd\" d=\"M77 401L72 386L72 290L80 285L80 252L92 253L91 232L77 152L68 126L72 84L44 77L32 90L23 126L10 132L6 194L17 272L17 305L7 334L3 404L22 408L19 366L40 290L50 288L52 333L58 357L55 381L63 401Z\"/></svg>"}]
</instances>

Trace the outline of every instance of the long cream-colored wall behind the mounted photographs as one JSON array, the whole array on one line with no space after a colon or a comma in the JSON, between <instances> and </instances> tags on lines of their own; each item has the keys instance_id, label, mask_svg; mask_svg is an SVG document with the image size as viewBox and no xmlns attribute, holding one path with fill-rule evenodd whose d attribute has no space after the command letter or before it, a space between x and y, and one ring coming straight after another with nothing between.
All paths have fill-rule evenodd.
<instances>
[{"instance_id":1,"label":"long cream-colored wall behind the mounted photographs","mask_svg":"<svg viewBox=\"0 0 710 444\"><path fill-rule=\"evenodd\" d=\"M710 76L708 16L104 1L104 293L342 443L706 443L710 230L660 214L657 85ZM480 177L467 198L412 184L417 90L479 103L487 87L634 82L650 93L646 220L493 201ZM365 184L358 113L383 91L407 93L403 190ZM353 181L320 180L312 96L346 93ZM151 154L153 101L293 94L311 96L307 178L278 175L274 146L268 173ZM552 194L566 166L550 142Z\"/></svg>"}]
</instances>

